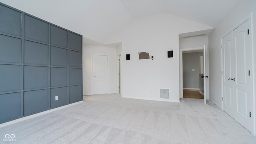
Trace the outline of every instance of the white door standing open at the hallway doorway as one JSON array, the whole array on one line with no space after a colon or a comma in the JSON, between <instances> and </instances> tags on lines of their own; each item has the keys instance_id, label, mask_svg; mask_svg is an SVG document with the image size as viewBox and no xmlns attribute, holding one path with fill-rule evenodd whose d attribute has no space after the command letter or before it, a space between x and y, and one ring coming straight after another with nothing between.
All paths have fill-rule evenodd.
<instances>
[{"instance_id":1,"label":"white door standing open at the hallway doorway","mask_svg":"<svg viewBox=\"0 0 256 144\"><path fill-rule=\"evenodd\" d=\"M209 60L208 48L204 45L204 104L209 99Z\"/></svg>"}]
</instances>

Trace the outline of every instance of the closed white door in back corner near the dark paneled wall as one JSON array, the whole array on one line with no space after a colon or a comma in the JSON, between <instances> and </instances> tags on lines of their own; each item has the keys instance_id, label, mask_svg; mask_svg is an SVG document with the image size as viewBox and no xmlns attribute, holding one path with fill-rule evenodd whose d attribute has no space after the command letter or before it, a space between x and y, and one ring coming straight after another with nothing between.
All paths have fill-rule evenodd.
<instances>
[{"instance_id":1,"label":"closed white door in back corner near the dark paneled wall","mask_svg":"<svg viewBox=\"0 0 256 144\"><path fill-rule=\"evenodd\" d=\"M108 93L108 56L93 55L93 94Z\"/></svg>"}]
</instances>

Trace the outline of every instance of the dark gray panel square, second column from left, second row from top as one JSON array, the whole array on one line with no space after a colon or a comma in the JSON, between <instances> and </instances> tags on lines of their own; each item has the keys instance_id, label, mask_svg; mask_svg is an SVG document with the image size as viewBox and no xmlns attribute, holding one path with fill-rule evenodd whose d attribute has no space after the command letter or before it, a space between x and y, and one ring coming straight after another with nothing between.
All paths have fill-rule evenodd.
<instances>
[{"instance_id":1,"label":"dark gray panel square, second column from left, second row from top","mask_svg":"<svg viewBox=\"0 0 256 144\"><path fill-rule=\"evenodd\" d=\"M24 64L48 65L48 45L24 40Z\"/></svg>"}]
</instances>

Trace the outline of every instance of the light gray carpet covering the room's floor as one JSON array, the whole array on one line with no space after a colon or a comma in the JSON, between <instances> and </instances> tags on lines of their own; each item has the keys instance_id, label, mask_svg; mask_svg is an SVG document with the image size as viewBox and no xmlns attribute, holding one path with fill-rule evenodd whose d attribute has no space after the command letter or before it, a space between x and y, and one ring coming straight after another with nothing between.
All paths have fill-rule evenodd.
<instances>
[{"instance_id":1,"label":"light gray carpet covering the room's floor","mask_svg":"<svg viewBox=\"0 0 256 144\"><path fill-rule=\"evenodd\" d=\"M15 134L16 142L4 142ZM180 103L85 96L68 108L0 129L10 144L255 144L256 137L210 101Z\"/></svg>"}]
</instances>

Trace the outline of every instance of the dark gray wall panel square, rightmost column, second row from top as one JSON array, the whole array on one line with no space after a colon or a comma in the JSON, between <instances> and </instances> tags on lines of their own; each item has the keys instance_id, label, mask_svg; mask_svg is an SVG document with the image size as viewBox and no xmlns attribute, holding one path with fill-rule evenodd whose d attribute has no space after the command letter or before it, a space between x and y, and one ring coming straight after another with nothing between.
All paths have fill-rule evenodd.
<instances>
[{"instance_id":1,"label":"dark gray wall panel square, rightmost column, second row from top","mask_svg":"<svg viewBox=\"0 0 256 144\"><path fill-rule=\"evenodd\" d=\"M82 52L69 50L69 66L74 66L74 67L82 66Z\"/></svg>"}]
</instances>

